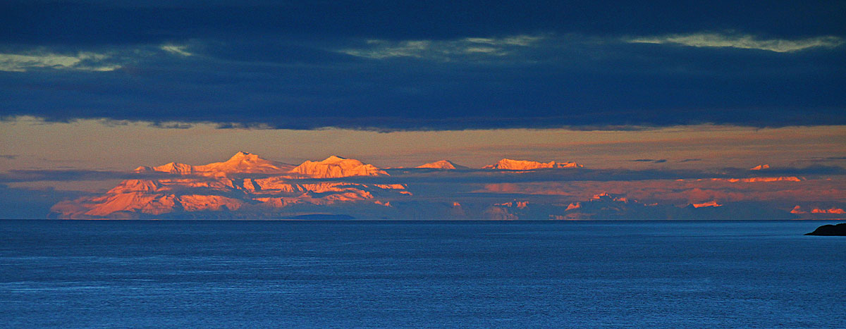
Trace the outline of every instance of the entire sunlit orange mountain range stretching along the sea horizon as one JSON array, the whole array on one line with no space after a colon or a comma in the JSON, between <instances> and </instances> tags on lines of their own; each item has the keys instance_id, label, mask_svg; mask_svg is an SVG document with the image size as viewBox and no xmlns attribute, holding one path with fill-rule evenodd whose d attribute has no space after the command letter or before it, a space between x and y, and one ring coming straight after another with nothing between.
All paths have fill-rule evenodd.
<instances>
[{"instance_id":1,"label":"entire sunlit orange mountain range stretching along the sea horizon","mask_svg":"<svg viewBox=\"0 0 846 329\"><path fill-rule=\"evenodd\" d=\"M789 211L760 205L704 200L667 205L629 200L599 192L587 200L549 196L480 193L473 184L444 188L403 173L415 170L449 178L448 172L481 171L492 175L538 170L582 170L575 162L502 159L481 169L448 160L415 168L380 168L340 156L299 165L238 152L225 162L201 166L171 162L137 167L101 195L64 200L52 206L52 218L368 218L368 219L662 219L794 218L820 211ZM434 172L432 172L434 171ZM398 176L393 176L398 175ZM440 175L440 176L438 176ZM799 178L727 180L755 183L801 182ZM759 183L755 183L759 184ZM410 186L409 186L410 185ZM492 186L492 185L491 185ZM484 191L482 191L484 192ZM508 198L512 200L508 200ZM522 200L521 200L522 199ZM797 206L798 207L798 206ZM794 208L792 205L788 208ZM799 208L795 208L799 209ZM832 208L833 209L833 208ZM825 213L836 213L828 211Z\"/></svg>"}]
</instances>

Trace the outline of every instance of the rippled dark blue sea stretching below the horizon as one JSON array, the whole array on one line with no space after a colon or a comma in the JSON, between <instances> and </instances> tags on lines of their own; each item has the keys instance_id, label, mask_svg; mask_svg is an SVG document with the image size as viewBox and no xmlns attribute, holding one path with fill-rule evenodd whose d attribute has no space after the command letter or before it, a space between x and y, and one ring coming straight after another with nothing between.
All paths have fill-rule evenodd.
<instances>
[{"instance_id":1,"label":"rippled dark blue sea stretching below the horizon","mask_svg":"<svg viewBox=\"0 0 846 329\"><path fill-rule=\"evenodd\" d=\"M846 327L825 222L0 222L0 326Z\"/></svg>"}]
</instances>

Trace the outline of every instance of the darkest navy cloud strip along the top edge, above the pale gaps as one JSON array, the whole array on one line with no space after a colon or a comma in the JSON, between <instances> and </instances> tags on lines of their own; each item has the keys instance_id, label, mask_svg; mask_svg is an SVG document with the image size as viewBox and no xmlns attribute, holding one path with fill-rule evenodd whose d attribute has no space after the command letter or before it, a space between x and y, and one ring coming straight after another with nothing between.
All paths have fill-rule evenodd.
<instances>
[{"instance_id":1,"label":"darkest navy cloud strip along the top edge, above the pale gaps","mask_svg":"<svg viewBox=\"0 0 846 329\"><path fill-rule=\"evenodd\" d=\"M841 2L772 1L4 1L0 41L143 43L227 35L387 39L532 31L653 35L743 30L816 36L846 30ZM754 19L753 19L754 18ZM14 32L13 32L14 31Z\"/></svg>"}]
</instances>

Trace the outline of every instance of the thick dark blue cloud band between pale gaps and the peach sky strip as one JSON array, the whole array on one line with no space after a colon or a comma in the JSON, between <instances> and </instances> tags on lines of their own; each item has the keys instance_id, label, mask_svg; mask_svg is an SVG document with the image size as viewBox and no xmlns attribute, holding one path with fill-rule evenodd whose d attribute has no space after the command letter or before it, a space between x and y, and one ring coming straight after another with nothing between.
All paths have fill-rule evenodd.
<instances>
[{"instance_id":1,"label":"thick dark blue cloud band between pale gaps and the peach sky strip","mask_svg":"<svg viewBox=\"0 0 846 329\"><path fill-rule=\"evenodd\" d=\"M6 104L0 114L283 129L846 124L843 66L822 61L796 69L826 58L822 53L763 59L773 69L715 72L704 68L710 56L690 54L700 52L695 48L681 58L633 52L610 63L562 58L581 67L559 65L558 55L520 65L420 58L276 64L162 55L110 72L0 72ZM732 61L752 65L762 60L756 54ZM641 69L617 69L629 66ZM665 66L688 69L664 72Z\"/></svg>"}]
</instances>

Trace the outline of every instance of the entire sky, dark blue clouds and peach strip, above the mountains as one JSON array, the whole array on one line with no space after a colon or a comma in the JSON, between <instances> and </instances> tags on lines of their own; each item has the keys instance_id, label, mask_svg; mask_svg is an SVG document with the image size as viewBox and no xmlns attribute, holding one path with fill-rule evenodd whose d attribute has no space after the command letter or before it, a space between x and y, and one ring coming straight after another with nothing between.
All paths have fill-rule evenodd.
<instances>
[{"instance_id":1,"label":"entire sky, dark blue clouds and peach strip, above the mountains","mask_svg":"<svg viewBox=\"0 0 846 329\"><path fill-rule=\"evenodd\" d=\"M766 163L825 173L838 183L819 201L838 206L844 13L842 1L7 0L0 194L40 196L0 217L102 193L141 165L237 151L377 167Z\"/></svg>"}]
</instances>

